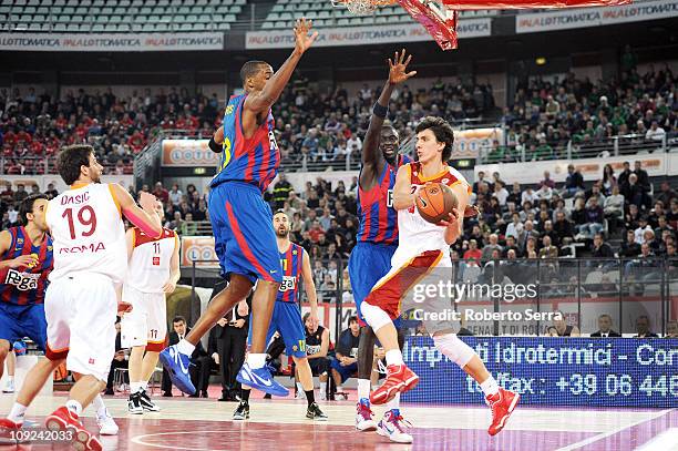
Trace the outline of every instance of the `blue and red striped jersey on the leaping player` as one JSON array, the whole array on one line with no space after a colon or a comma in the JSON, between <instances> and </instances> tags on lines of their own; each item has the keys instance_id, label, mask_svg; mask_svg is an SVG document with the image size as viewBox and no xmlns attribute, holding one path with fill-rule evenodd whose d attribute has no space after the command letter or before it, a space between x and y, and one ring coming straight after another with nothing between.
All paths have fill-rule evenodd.
<instances>
[{"instance_id":1,"label":"blue and red striped jersey on the leaping player","mask_svg":"<svg viewBox=\"0 0 678 451\"><path fill-rule=\"evenodd\" d=\"M247 94L233 95L224 113L224 144L217 174L212 180L214 187L224 182L245 182L266 191L278 174L280 150L274 133L270 110L249 139L243 132L243 109Z\"/></svg>"}]
</instances>

